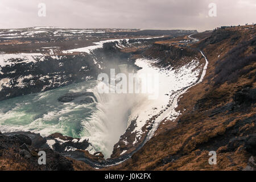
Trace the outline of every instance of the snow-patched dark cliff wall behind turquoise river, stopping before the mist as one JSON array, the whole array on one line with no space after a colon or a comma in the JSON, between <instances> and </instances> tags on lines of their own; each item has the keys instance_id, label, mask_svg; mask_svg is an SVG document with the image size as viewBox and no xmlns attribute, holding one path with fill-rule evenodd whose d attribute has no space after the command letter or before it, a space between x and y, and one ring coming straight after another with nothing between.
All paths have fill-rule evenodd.
<instances>
[{"instance_id":1,"label":"snow-patched dark cliff wall behind turquoise river, stopping before the mist","mask_svg":"<svg viewBox=\"0 0 256 182\"><path fill-rule=\"evenodd\" d=\"M1 67L0 100L90 80L100 69L88 55L31 56L11 59ZM15 64L14 64L15 63Z\"/></svg>"}]
</instances>

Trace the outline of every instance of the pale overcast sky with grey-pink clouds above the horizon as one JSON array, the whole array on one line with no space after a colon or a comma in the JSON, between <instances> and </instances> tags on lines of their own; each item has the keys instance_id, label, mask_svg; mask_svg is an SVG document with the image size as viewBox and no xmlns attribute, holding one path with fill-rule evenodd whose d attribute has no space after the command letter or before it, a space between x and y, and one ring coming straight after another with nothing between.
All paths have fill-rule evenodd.
<instances>
[{"instance_id":1,"label":"pale overcast sky with grey-pink clouds above the horizon","mask_svg":"<svg viewBox=\"0 0 256 182\"><path fill-rule=\"evenodd\" d=\"M38 16L45 3L46 16ZM209 17L209 3L217 16ZM256 23L256 0L0 0L0 28L142 28L212 30Z\"/></svg>"}]
</instances>

